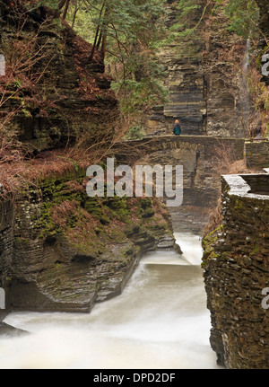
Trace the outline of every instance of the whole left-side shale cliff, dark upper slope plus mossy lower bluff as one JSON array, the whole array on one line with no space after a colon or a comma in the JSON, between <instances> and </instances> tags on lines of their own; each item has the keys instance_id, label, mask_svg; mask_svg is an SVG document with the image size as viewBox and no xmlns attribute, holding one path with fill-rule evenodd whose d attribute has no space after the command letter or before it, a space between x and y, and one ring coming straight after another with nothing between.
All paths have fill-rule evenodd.
<instances>
[{"instance_id":1,"label":"whole left-side shale cliff, dark upper slope plus mossy lower bluff","mask_svg":"<svg viewBox=\"0 0 269 387\"><path fill-rule=\"evenodd\" d=\"M100 53L46 6L2 0L0 14L0 319L11 308L89 312L121 293L143 251L173 248L169 215L155 199L89 198L96 159L65 152L112 141L117 99Z\"/></svg>"}]
</instances>

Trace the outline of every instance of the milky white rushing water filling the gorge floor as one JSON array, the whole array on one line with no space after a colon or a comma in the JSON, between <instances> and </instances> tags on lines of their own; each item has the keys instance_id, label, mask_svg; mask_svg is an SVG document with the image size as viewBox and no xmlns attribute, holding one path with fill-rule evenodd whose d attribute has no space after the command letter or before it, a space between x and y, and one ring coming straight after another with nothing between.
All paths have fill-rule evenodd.
<instances>
[{"instance_id":1,"label":"milky white rushing water filling the gorge floor","mask_svg":"<svg viewBox=\"0 0 269 387\"><path fill-rule=\"evenodd\" d=\"M217 368L199 237L176 235L184 255L152 252L124 293L91 314L13 312L33 334L0 339L0 368Z\"/></svg>"}]
</instances>

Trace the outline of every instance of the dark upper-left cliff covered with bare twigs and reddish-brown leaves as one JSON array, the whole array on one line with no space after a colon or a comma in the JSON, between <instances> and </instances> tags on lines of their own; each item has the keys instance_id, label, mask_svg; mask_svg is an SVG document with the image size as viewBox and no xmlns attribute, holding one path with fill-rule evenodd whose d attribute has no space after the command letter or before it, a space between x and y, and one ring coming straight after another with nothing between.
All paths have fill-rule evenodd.
<instances>
[{"instance_id":1,"label":"dark upper-left cliff covered with bare twigs and reddish-brown leaves","mask_svg":"<svg viewBox=\"0 0 269 387\"><path fill-rule=\"evenodd\" d=\"M91 44L47 8L27 12L9 3L0 2L0 53L6 62L0 113L16 110L11 128L19 139L43 150L73 144L85 133L89 143L111 135L117 99L99 52L91 58Z\"/></svg>"}]
</instances>

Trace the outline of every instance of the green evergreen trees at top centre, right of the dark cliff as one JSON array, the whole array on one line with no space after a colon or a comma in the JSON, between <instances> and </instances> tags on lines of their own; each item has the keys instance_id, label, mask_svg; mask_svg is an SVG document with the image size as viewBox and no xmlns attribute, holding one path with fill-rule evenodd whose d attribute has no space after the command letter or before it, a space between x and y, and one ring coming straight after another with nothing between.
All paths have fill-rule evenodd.
<instances>
[{"instance_id":1,"label":"green evergreen trees at top centre, right of the dark cliff","mask_svg":"<svg viewBox=\"0 0 269 387\"><path fill-rule=\"evenodd\" d=\"M77 0L67 18L99 49L124 114L139 115L166 101L163 68L153 49L166 34L164 0Z\"/></svg>"}]
</instances>

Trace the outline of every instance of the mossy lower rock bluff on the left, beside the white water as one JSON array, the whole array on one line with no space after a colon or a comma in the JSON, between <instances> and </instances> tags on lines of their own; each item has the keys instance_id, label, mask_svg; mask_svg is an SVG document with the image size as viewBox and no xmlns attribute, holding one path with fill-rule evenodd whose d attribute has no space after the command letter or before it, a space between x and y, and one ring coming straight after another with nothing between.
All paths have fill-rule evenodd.
<instances>
[{"instance_id":1,"label":"mossy lower rock bluff on the left, beside the white water","mask_svg":"<svg viewBox=\"0 0 269 387\"><path fill-rule=\"evenodd\" d=\"M83 181L76 172L51 177L42 196L26 188L13 206L13 223L0 230L0 286L13 308L90 312L122 292L143 251L174 247L158 200L89 198Z\"/></svg>"}]
</instances>

